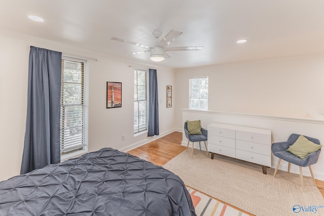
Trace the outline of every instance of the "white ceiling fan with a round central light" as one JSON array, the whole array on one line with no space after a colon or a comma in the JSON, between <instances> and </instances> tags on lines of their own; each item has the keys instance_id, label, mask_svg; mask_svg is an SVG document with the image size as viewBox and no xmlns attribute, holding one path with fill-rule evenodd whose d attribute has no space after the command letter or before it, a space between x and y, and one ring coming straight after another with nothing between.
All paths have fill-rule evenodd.
<instances>
[{"instance_id":1,"label":"white ceiling fan with a round central light","mask_svg":"<svg viewBox=\"0 0 324 216\"><path fill-rule=\"evenodd\" d=\"M153 47L142 45L140 43L129 41L129 40L120 39L118 37L111 37L110 39L148 49L148 50L144 50L144 51L134 52L132 54L136 55L136 54L140 54L140 53L150 52L150 56L151 56L150 59L155 62L163 61L165 58L170 58L170 56L166 53L166 51L191 51L191 50L203 49L203 47L171 47L171 48L167 48L167 46L169 46L172 41L174 41L178 36L180 36L180 34L182 34L181 31L171 30L160 41L158 41L158 38L162 35L161 31L154 30L152 32L152 34L156 39Z\"/></svg>"}]
</instances>

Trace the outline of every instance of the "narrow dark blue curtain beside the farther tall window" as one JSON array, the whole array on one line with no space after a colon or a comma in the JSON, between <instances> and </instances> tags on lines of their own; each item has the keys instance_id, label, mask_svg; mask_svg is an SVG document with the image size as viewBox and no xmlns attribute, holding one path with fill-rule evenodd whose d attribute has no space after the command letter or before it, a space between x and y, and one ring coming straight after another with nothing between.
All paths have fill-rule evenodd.
<instances>
[{"instance_id":1,"label":"narrow dark blue curtain beside the farther tall window","mask_svg":"<svg viewBox=\"0 0 324 216\"><path fill-rule=\"evenodd\" d=\"M148 91L149 91L149 107L148 107L148 137L159 135L158 132L158 97L157 97L157 74L156 70L148 71Z\"/></svg>"}]
</instances>

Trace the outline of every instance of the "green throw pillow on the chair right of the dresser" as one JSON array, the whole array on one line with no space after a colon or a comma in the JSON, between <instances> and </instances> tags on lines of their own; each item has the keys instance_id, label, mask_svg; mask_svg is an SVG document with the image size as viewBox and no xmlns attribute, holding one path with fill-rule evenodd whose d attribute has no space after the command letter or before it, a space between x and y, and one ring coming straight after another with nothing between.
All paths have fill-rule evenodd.
<instances>
[{"instance_id":1,"label":"green throw pillow on the chair right of the dresser","mask_svg":"<svg viewBox=\"0 0 324 216\"><path fill-rule=\"evenodd\" d=\"M297 157L300 157L301 159L305 160L307 155L309 155L312 152L317 151L320 149L322 145L317 145L311 141L309 141L306 137L303 135L300 135L299 138L296 140L296 142L291 145L287 151L290 153L296 155Z\"/></svg>"}]
</instances>

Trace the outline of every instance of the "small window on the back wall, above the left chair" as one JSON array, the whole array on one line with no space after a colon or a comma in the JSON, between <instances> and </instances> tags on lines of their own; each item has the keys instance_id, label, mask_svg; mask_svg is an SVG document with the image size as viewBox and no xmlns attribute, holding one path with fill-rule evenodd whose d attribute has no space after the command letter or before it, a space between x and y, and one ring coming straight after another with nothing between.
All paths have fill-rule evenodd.
<instances>
[{"instance_id":1,"label":"small window on the back wall, above the left chair","mask_svg":"<svg viewBox=\"0 0 324 216\"><path fill-rule=\"evenodd\" d=\"M208 77L189 79L189 109L208 110Z\"/></svg>"}]
</instances>

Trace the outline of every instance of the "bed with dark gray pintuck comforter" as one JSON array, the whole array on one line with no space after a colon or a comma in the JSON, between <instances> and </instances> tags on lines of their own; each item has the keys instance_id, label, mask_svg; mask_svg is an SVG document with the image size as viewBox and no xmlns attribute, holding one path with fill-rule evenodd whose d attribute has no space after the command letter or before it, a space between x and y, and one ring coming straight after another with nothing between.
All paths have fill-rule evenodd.
<instances>
[{"instance_id":1,"label":"bed with dark gray pintuck comforter","mask_svg":"<svg viewBox=\"0 0 324 216\"><path fill-rule=\"evenodd\" d=\"M0 215L196 215L182 180L104 148L0 182Z\"/></svg>"}]
</instances>

